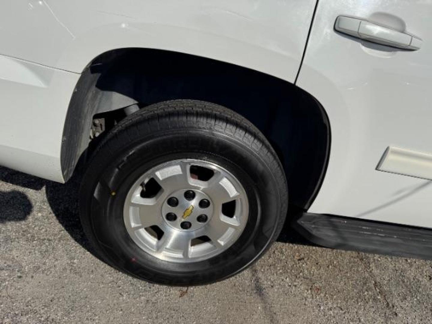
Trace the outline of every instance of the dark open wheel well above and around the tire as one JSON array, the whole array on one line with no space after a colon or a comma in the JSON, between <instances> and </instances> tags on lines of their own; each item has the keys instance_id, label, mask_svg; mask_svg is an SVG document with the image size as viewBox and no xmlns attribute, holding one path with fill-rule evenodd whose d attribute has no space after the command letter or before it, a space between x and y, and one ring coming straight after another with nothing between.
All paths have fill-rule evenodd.
<instances>
[{"instance_id":1,"label":"dark open wheel well above and around the tire","mask_svg":"<svg viewBox=\"0 0 432 324\"><path fill-rule=\"evenodd\" d=\"M308 208L321 186L330 149L330 124L318 101L276 77L171 51L115 50L89 64L67 113L61 154L65 179L89 145L95 118L109 129L127 115L125 107L172 99L213 102L251 121L283 163L289 202Z\"/></svg>"}]
</instances>

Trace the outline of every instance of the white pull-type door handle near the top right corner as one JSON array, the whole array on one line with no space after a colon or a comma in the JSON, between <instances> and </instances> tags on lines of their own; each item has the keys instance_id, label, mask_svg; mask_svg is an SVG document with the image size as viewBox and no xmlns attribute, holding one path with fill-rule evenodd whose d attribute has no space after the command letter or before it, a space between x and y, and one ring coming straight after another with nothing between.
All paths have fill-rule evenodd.
<instances>
[{"instance_id":1,"label":"white pull-type door handle near the top right corner","mask_svg":"<svg viewBox=\"0 0 432 324\"><path fill-rule=\"evenodd\" d=\"M422 45L422 40L416 36L398 32L365 19L339 16L336 18L334 29L343 34L395 48L415 51Z\"/></svg>"}]
</instances>

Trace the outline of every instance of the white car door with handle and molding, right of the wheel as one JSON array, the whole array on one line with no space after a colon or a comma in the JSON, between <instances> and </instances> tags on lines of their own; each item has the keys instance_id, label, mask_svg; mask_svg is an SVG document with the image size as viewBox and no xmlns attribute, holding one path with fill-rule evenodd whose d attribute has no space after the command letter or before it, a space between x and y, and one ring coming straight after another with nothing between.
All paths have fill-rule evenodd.
<instances>
[{"instance_id":1,"label":"white car door with handle and molding, right of the wheel","mask_svg":"<svg viewBox=\"0 0 432 324\"><path fill-rule=\"evenodd\" d=\"M337 32L338 16L362 25ZM332 143L310 212L432 227L431 182L410 177L430 178L431 17L425 0L319 0L297 85L326 109ZM413 35L412 49L382 45ZM405 175L377 170L388 146L383 168Z\"/></svg>"}]
</instances>

